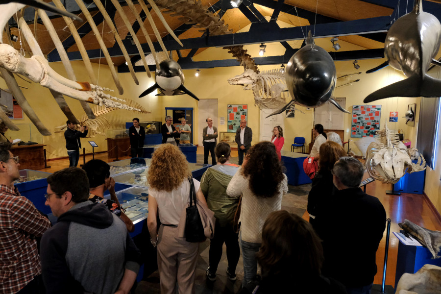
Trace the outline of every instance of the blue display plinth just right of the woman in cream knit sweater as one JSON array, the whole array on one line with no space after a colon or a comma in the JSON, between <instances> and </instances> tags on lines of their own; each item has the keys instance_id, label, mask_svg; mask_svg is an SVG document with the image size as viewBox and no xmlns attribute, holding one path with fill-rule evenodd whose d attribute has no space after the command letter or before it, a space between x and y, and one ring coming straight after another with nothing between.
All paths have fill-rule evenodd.
<instances>
[{"instance_id":1,"label":"blue display plinth just right of the woman in cream knit sweater","mask_svg":"<svg viewBox=\"0 0 441 294\"><path fill-rule=\"evenodd\" d=\"M288 184L293 186L311 183L312 180L303 171L303 161L307 154L289 152L282 150L282 162L286 167L286 176L288 177Z\"/></svg>"}]
</instances>

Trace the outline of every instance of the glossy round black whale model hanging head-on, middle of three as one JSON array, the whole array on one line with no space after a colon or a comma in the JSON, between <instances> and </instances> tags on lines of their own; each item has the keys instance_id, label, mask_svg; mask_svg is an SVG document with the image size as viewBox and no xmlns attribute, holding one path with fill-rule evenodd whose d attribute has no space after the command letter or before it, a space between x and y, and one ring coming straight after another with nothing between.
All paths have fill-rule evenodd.
<instances>
[{"instance_id":1,"label":"glossy round black whale model hanging head-on, middle of three","mask_svg":"<svg viewBox=\"0 0 441 294\"><path fill-rule=\"evenodd\" d=\"M291 101L268 117L284 112L294 103L305 107L319 107L331 102L341 111L350 113L334 100L336 76L334 60L325 49L314 44L314 38L309 31L306 45L295 52L286 65L285 79Z\"/></svg>"}]
</instances>

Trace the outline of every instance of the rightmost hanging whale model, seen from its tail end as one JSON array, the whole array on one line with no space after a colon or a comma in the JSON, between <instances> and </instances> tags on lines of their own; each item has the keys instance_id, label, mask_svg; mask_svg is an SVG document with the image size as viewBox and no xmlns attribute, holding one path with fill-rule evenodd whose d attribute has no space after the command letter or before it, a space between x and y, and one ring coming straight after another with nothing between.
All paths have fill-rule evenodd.
<instances>
[{"instance_id":1,"label":"rightmost hanging whale model, seen from its tail end","mask_svg":"<svg viewBox=\"0 0 441 294\"><path fill-rule=\"evenodd\" d=\"M441 97L441 80L426 74L431 63L441 66L434 59L440 49L440 35L440 21L423 12L421 0L417 0L414 9L389 29L384 42L386 62L367 72L373 73L390 65L402 71L407 79L373 92L363 102L389 97Z\"/></svg>"}]
</instances>

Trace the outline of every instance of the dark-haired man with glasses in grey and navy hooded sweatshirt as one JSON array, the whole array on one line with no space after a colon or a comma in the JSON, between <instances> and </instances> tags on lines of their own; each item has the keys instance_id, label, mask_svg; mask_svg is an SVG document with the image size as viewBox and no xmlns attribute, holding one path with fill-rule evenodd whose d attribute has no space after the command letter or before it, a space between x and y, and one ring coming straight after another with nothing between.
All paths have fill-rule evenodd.
<instances>
[{"instance_id":1,"label":"dark-haired man with glasses in grey and navy hooded sweatshirt","mask_svg":"<svg viewBox=\"0 0 441 294\"><path fill-rule=\"evenodd\" d=\"M129 293L141 254L124 222L88 201L85 171L66 168L47 180L45 204L58 217L40 247L47 294Z\"/></svg>"}]
</instances>

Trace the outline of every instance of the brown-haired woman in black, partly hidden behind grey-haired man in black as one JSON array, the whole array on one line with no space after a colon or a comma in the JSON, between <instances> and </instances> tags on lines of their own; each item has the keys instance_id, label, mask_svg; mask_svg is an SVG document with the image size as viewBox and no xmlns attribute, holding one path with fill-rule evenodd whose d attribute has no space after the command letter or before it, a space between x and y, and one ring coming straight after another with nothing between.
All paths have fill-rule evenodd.
<instances>
[{"instance_id":1,"label":"brown-haired woman in black, partly hidden behind grey-haired man in black","mask_svg":"<svg viewBox=\"0 0 441 294\"><path fill-rule=\"evenodd\" d=\"M332 182L332 168L340 157L346 156L346 151L338 143L328 141L320 146L319 171L312 182L308 195L308 213L312 216L309 222L314 226L314 218L319 214L320 206L334 195L336 187Z\"/></svg>"}]
</instances>

